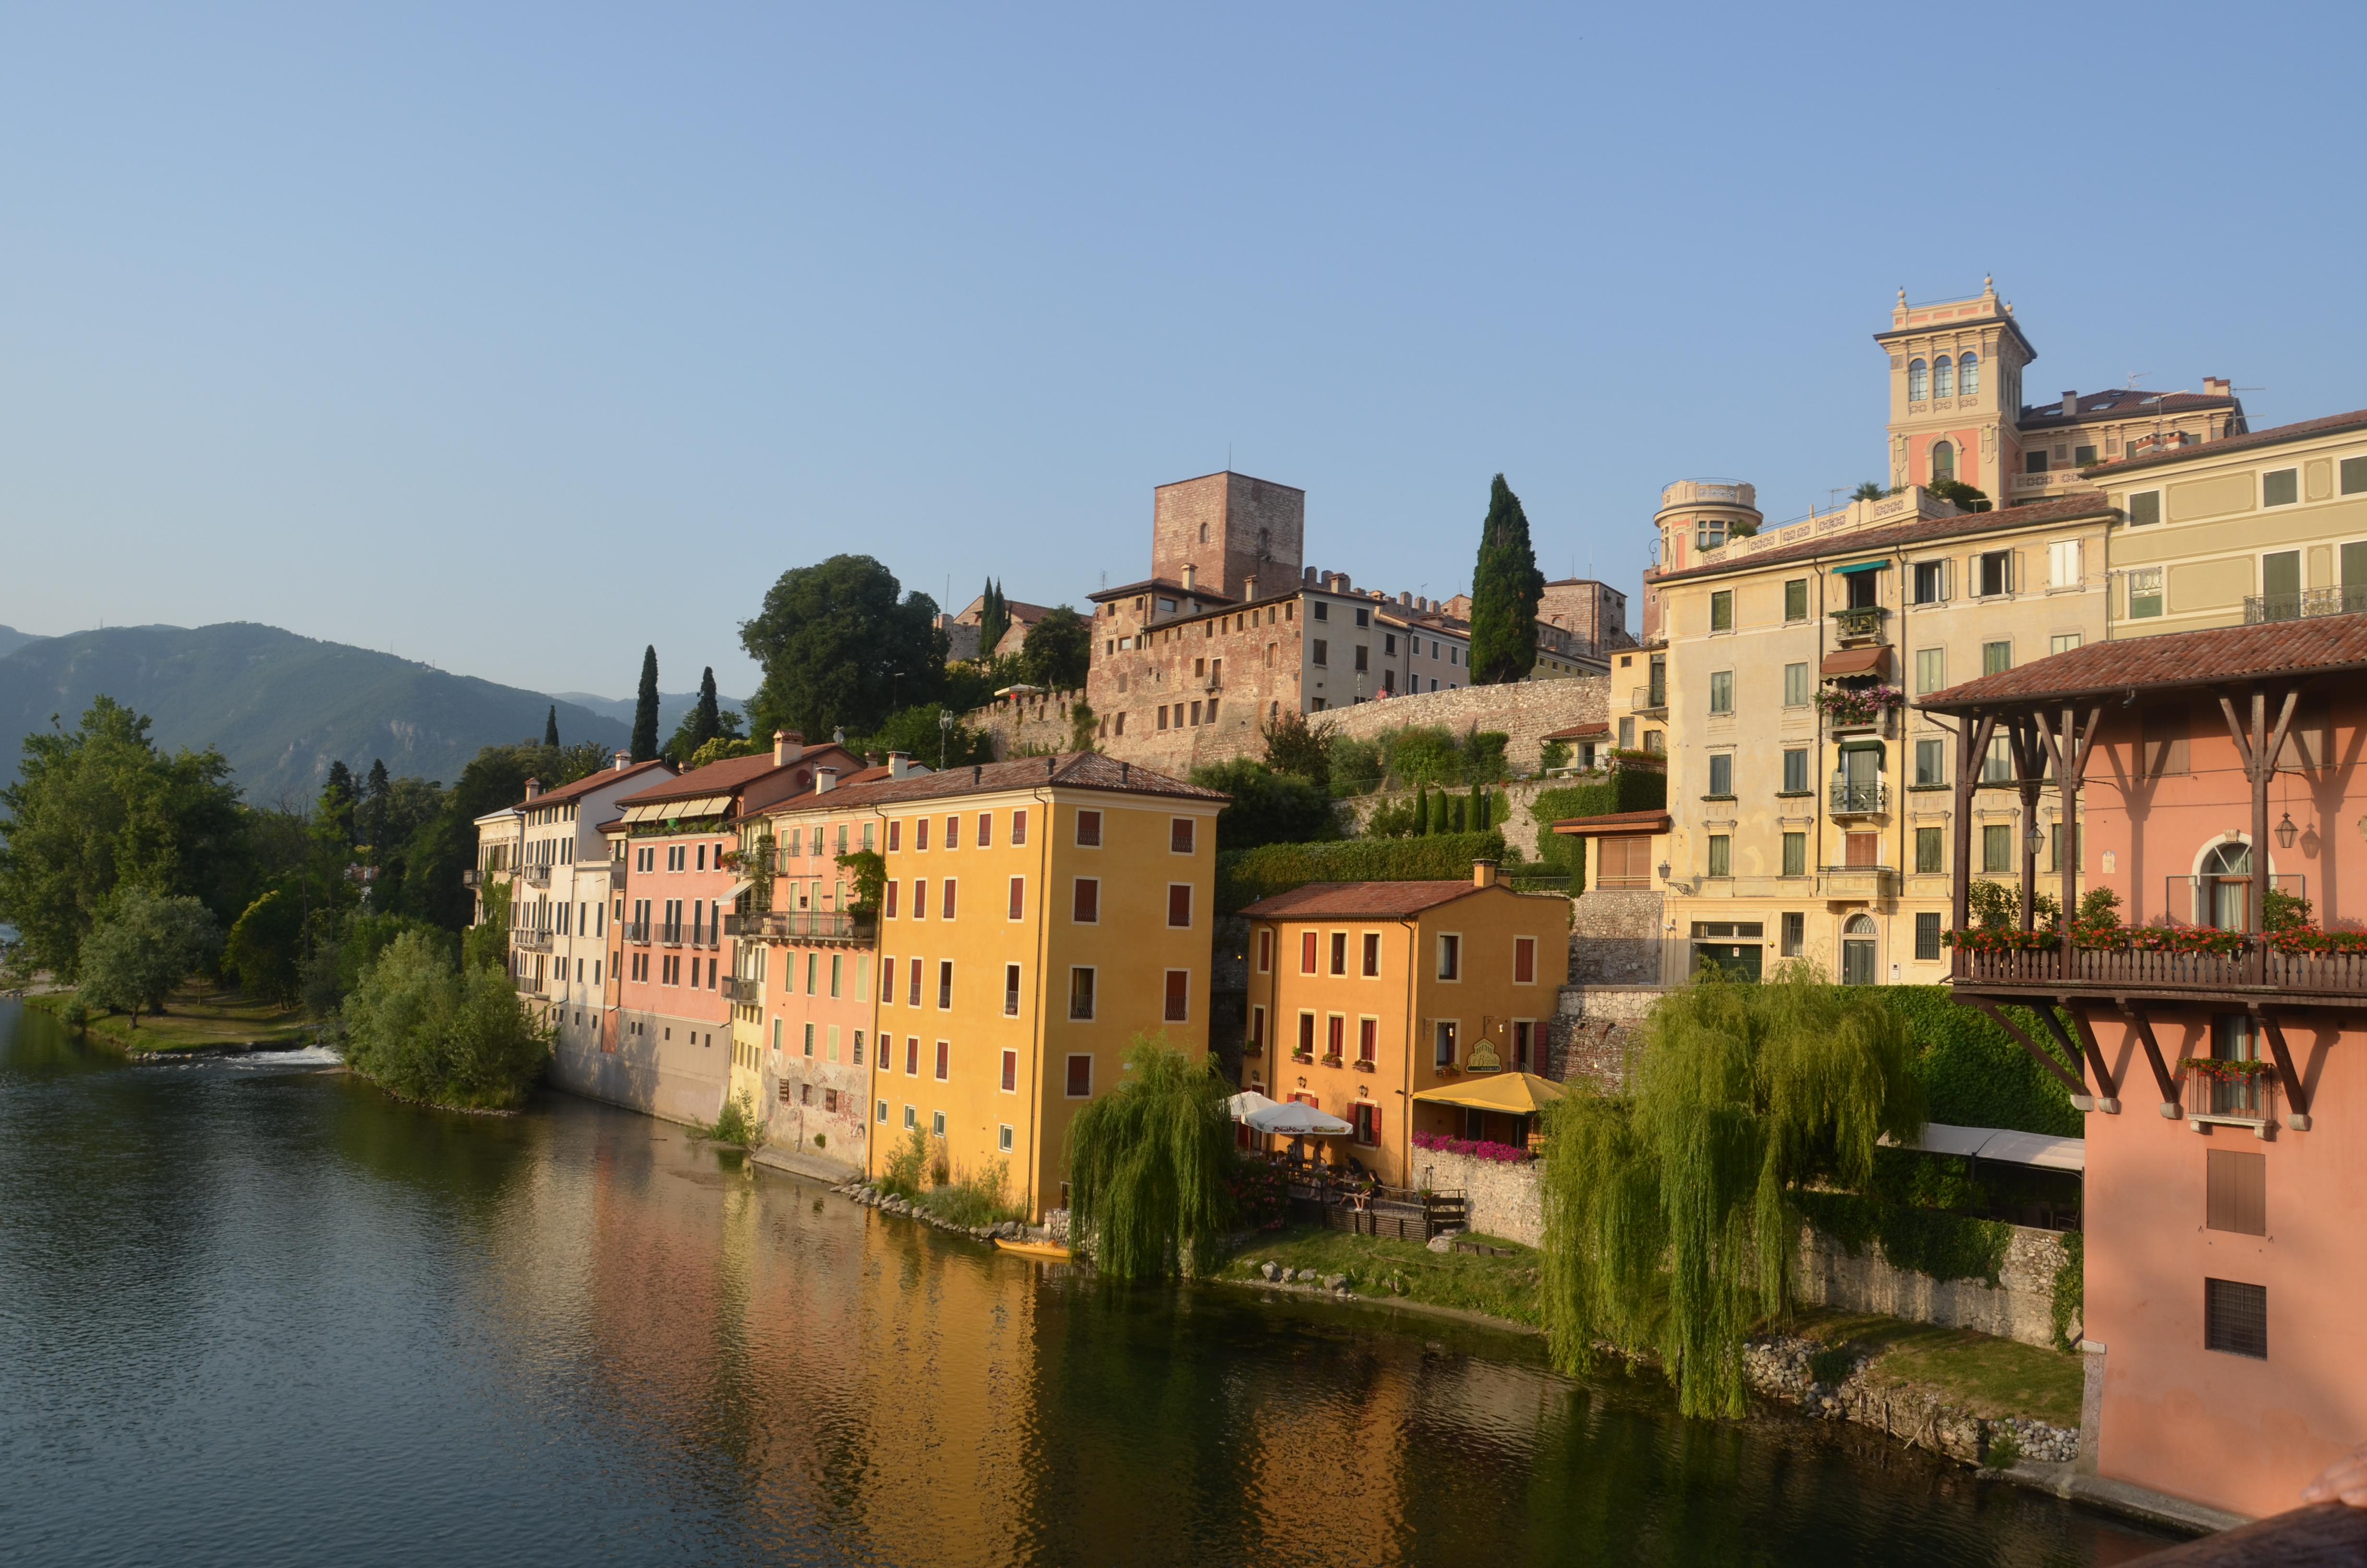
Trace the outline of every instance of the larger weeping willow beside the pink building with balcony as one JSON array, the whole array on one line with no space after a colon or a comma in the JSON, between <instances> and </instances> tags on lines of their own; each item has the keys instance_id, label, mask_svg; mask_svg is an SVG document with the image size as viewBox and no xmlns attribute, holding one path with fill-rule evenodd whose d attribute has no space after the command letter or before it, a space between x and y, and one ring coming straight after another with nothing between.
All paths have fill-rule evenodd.
<instances>
[{"instance_id":1,"label":"larger weeping willow beside the pink building with balcony","mask_svg":"<svg viewBox=\"0 0 2367 1568\"><path fill-rule=\"evenodd\" d=\"M1652 1009L1631 1094L1548 1113L1543 1312L1553 1360L1655 1350L1688 1416L1742 1414L1742 1341L1792 1307L1806 1182L1865 1189L1884 1132L1922 1130L1903 1021L1794 964L1716 971Z\"/></svg>"}]
</instances>

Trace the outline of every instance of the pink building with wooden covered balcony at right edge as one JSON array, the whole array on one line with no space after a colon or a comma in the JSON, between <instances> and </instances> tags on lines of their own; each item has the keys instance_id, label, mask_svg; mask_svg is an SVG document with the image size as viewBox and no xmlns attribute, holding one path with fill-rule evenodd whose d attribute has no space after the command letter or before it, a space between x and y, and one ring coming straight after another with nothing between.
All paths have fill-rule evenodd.
<instances>
[{"instance_id":1,"label":"pink building with wooden covered balcony at right edge","mask_svg":"<svg viewBox=\"0 0 2367 1568\"><path fill-rule=\"evenodd\" d=\"M2021 931L1960 943L1955 997L2088 1113L2083 1464L2289 1509L2367 1438L2367 616L2090 644L1922 706L1965 734L1958 933L1974 834L2021 848ZM2137 928L2031 928L2031 893L2088 888Z\"/></svg>"}]
</instances>

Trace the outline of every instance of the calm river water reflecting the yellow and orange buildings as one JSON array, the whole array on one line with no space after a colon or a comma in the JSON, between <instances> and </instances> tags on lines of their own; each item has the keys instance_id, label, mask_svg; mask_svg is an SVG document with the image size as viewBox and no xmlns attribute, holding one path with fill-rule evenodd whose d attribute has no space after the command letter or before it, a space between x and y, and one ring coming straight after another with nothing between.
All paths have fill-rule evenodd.
<instances>
[{"instance_id":1,"label":"calm river water reflecting the yellow and orange buildings","mask_svg":"<svg viewBox=\"0 0 2367 1568\"><path fill-rule=\"evenodd\" d=\"M566 1097L0 1002L0 1559L2121 1563L2163 1537L1534 1341L1112 1293Z\"/></svg>"}]
</instances>

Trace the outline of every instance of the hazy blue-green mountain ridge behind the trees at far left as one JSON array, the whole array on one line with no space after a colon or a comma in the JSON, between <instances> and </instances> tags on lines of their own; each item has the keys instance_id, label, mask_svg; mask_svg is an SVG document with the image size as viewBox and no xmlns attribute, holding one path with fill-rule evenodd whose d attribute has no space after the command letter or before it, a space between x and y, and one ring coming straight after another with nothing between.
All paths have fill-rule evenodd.
<instances>
[{"instance_id":1,"label":"hazy blue-green mountain ridge behind the trees at far left","mask_svg":"<svg viewBox=\"0 0 2367 1568\"><path fill-rule=\"evenodd\" d=\"M111 625L0 658L0 767L54 713L69 730L104 692L147 713L166 751L218 746L249 801L312 796L343 760L452 784L481 746L540 741L552 699L275 625ZM559 739L632 744L632 725L559 703Z\"/></svg>"}]
</instances>

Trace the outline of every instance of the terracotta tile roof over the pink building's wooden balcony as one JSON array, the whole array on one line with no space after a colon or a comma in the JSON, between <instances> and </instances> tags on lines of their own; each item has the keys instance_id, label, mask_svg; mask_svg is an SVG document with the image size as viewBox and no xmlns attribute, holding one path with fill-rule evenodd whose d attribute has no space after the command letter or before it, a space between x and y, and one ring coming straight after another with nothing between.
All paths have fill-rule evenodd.
<instances>
[{"instance_id":1,"label":"terracotta tile roof over the pink building's wooden balcony","mask_svg":"<svg viewBox=\"0 0 2367 1568\"><path fill-rule=\"evenodd\" d=\"M2223 625L2088 647L1934 692L1917 708L1986 708L2055 696L2111 696L2149 687L2334 675L2367 668L2367 616L2310 616Z\"/></svg>"}]
</instances>

